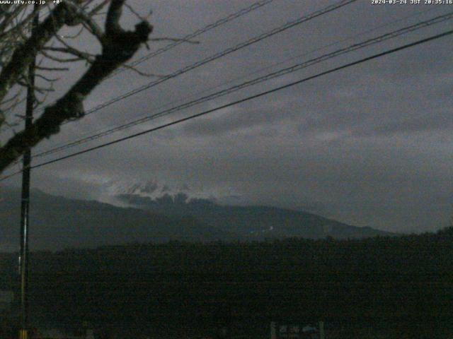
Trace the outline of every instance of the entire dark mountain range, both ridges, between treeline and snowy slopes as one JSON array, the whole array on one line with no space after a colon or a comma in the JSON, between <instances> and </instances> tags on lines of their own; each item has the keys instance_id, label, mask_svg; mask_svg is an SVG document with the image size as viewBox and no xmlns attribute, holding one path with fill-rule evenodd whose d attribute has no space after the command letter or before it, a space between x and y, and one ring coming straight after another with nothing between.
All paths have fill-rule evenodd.
<instances>
[{"instance_id":1,"label":"entire dark mountain range, both ridges, between treeline and snowy slopes","mask_svg":"<svg viewBox=\"0 0 453 339\"><path fill-rule=\"evenodd\" d=\"M286 237L336 239L391 235L319 215L266 206L221 206L185 194L147 198L117 196L128 208L98 201L52 196L33 190L30 203L31 249L59 250L133 242L212 242ZM18 249L20 191L0 192L0 251Z\"/></svg>"}]
</instances>

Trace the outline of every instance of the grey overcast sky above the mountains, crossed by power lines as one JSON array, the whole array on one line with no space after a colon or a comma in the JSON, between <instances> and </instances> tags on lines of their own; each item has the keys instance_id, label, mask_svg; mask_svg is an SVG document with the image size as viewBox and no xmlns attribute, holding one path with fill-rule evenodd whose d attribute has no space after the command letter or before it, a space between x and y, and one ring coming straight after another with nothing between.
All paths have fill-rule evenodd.
<instances>
[{"instance_id":1,"label":"grey overcast sky above the mountains, crossed by power lines","mask_svg":"<svg viewBox=\"0 0 453 339\"><path fill-rule=\"evenodd\" d=\"M200 35L196 39L199 44L180 44L138 68L154 74L172 73L336 2L274 0ZM139 13L146 14L152 9L154 37L183 37L250 6L253 1L130 3ZM453 11L452 5L372 5L371 0L358 0L67 124L58 136L43 142L33 152L449 11ZM125 25L132 25L134 20L126 11ZM376 29L361 35L373 28ZM36 159L34 163L217 107L451 28L452 20L424 28L93 143ZM351 38L345 40L348 37ZM96 49L92 40L78 43L86 49ZM151 51L165 44L168 42L152 42ZM333 45L321 48L329 44ZM142 49L137 57L149 52ZM435 40L169 129L35 169L32 184L52 194L111 201L110 196L120 187L155 182L190 196L215 198L220 203L259 203L311 210L352 225L382 230L437 230L447 225L453 212L452 54L451 36ZM75 66L64 75L58 86L60 94L83 67ZM86 101L86 108L152 80L124 71L105 81ZM18 182L11 179L8 184Z\"/></svg>"}]
</instances>

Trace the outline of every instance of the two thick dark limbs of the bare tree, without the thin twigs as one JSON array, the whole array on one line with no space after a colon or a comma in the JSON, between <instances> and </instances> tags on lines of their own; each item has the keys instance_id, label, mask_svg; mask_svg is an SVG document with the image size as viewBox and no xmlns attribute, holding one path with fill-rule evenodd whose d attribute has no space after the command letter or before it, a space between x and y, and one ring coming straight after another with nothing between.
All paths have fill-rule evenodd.
<instances>
[{"instance_id":1,"label":"two thick dark limbs of the bare tree, without the thin twigs","mask_svg":"<svg viewBox=\"0 0 453 339\"><path fill-rule=\"evenodd\" d=\"M110 73L125 64L137 52L139 47L147 42L152 30L152 26L147 21L142 21L135 25L135 30L133 31L126 31L121 28L119 20L124 3L125 0L110 1L105 20L105 33L101 40L102 52L96 56L93 64L89 66L79 81L66 94L60 97L54 105L45 108L42 115L30 126L30 129L17 133L0 148L0 172L17 160L25 150L37 145L44 138L50 138L53 134L58 133L64 121L83 117L83 102L87 95ZM45 52L41 49L43 49L45 43L50 40L52 35L56 34L56 28L61 28L67 20L71 21L73 19L74 13L69 8L69 6L57 6L53 11L53 20L47 18L39 25L37 34L30 37L23 47L19 47L14 52L20 61L20 69L13 69L11 64L2 69L0 74L0 100L8 93L11 85L20 80L25 67L30 63L30 57L26 51L32 49L35 52L44 54ZM71 22L74 22L74 20Z\"/></svg>"}]
</instances>

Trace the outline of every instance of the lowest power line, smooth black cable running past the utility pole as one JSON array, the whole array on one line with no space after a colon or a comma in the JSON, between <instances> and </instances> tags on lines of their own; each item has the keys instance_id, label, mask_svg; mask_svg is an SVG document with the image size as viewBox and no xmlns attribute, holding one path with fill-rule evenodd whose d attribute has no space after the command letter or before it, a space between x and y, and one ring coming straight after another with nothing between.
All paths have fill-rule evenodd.
<instances>
[{"instance_id":1,"label":"lowest power line, smooth black cable running past the utility pole","mask_svg":"<svg viewBox=\"0 0 453 339\"><path fill-rule=\"evenodd\" d=\"M152 133L154 131L159 131L160 129L165 129L166 127L169 127L169 126L173 126L173 125L176 125L176 124L180 124L184 121L188 121L188 120L191 120L191 119L195 119L197 117L202 117L206 114L210 114L212 112L216 112L216 111L219 111L220 109L224 109L224 108L227 108L227 107L231 107L231 106L234 106L234 105L238 105L238 104L241 104L242 102L247 102L247 101L250 101L250 100L253 100L253 99L256 99L258 97L263 97L265 95L269 95L271 93L275 93L277 91L280 91L280 90L284 90L285 88L289 88L289 87L292 87L294 85L299 85L300 83L304 83L306 81L310 81L314 78L319 78L321 76L325 76L327 74L330 74L330 73L334 73L336 71L340 71L342 69L347 69L351 66L355 66L357 64L362 64L366 61L370 61L370 60L373 60L373 59L377 59L379 57L384 57L388 54L392 54L392 53L395 53L395 52L398 52L398 51L401 51L403 49L408 49L410 47L415 47L419 44L424 44L426 42L430 42L432 40L437 40L437 39L440 39L441 37L446 37L447 35L452 35L453 34L453 30L448 30L446 32L442 32L440 34L437 34L437 35L433 35L431 37L427 37L425 39L422 39L422 40L418 40L418 41L415 41L415 42L411 42L410 44L404 44L403 46L400 46L400 47L396 47L396 48L393 48L393 49L388 49L386 50L385 52L381 52L381 53L378 53L378 54L374 54L372 55L371 57L365 57L363 59L360 59L360 60L357 60L357 61L353 61L353 62L350 62L348 64L344 64L342 66L338 66L338 67L335 67L333 69L329 69L328 71L323 71L321 73L317 73L316 75L314 76L309 76L309 77L306 77L306 78L302 78L298 81L294 81L292 83L288 83L286 85L282 85L282 86L279 86L277 88L273 88L271 90L266 90L264 92L261 92L261 93L258 93L256 95L251 95L251 96L248 96L248 97L245 97L241 100L236 100L234 102L229 102L228 104L226 105L221 105L219 107L215 107L215 108L212 108L212 109L208 109L206 111L203 111L203 112L200 112L200 113L197 113L197 114L193 114L193 115L190 115L189 117L185 117L185 118L182 118L182 119L178 119L176 121L172 121L172 122L169 122L167 124L162 124L161 126L157 126L157 127L154 127L152 129L147 129L146 131L142 131L142 132L139 132L139 133L134 133L130 136L126 136L126 137L123 137L123 138L119 138L119 139L116 139L114 141L110 141L108 143L103 143L101 145L97 145L97 146L94 146L92 148L87 148L86 150L81 150L79 152L76 152L76 153L71 153L69 155L65 155L63 157L58 157L57 159L53 159L53 160L50 160L50 161L47 161L47 162L42 162L38 165L33 165L30 167L30 169L35 169L35 168L38 168L38 167L43 167L43 166L46 166L46 165L50 165L54 162L59 162L61 160L66 160L66 159L69 159L70 157L75 157L77 155L81 155L81 154L84 154L84 153L88 153L88 152L91 152L93 150L98 150L100 148L104 148L104 147L107 147L109 145L113 145L115 143L120 143L122 141L126 141L126 140L129 140L129 139L132 139L132 138L136 138L137 136L142 136L144 134L147 134L147 133ZM1 181L4 181L10 177L13 177L14 175L16 174L19 174L23 172L23 169L19 172L16 172L16 173L13 173L13 174L9 174L8 176L6 177L1 177L0 178L0 182Z\"/></svg>"}]
</instances>

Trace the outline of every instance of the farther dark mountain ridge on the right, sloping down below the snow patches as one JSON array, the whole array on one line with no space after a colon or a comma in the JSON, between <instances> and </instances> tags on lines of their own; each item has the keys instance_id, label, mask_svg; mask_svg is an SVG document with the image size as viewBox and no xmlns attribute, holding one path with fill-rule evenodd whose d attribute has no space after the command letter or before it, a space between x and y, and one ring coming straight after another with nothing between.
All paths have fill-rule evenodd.
<instances>
[{"instance_id":1,"label":"farther dark mountain ridge on the right, sloping down below the snow patches","mask_svg":"<svg viewBox=\"0 0 453 339\"><path fill-rule=\"evenodd\" d=\"M189 199L186 194L175 196L165 194L159 198L119 194L117 198L130 206L152 213L164 213L172 218L192 215L219 230L239 234L242 239L285 237L319 239L328 236L347 239L395 235L371 227L347 225L303 211L268 206L222 206L207 199Z\"/></svg>"}]
</instances>

